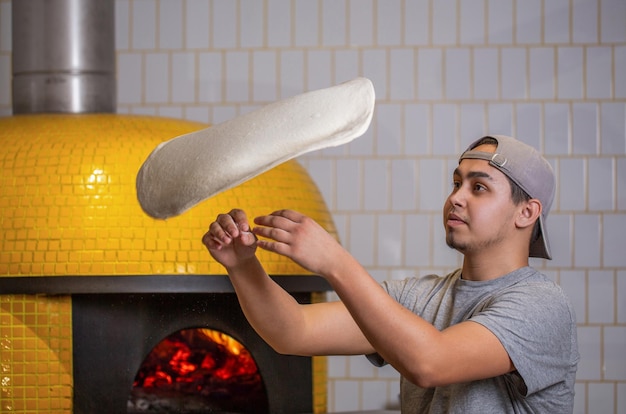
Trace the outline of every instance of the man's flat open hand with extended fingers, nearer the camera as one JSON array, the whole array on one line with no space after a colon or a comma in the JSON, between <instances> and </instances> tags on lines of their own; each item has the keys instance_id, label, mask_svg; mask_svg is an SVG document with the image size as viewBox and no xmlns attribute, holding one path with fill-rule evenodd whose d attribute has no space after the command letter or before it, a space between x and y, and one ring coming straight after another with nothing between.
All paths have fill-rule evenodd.
<instances>
[{"instance_id":1,"label":"man's flat open hand with extended fingers, nearer the camera","mask_svg":"<svg viewBox=\"0 0 626 414\"><path fill-rule=\"evenodd\" d=\"M305 269L327 276L343 247L312 218L293 210L256 217L253 232L260 248L286 256Z\"/></svg>"}]
</instances>

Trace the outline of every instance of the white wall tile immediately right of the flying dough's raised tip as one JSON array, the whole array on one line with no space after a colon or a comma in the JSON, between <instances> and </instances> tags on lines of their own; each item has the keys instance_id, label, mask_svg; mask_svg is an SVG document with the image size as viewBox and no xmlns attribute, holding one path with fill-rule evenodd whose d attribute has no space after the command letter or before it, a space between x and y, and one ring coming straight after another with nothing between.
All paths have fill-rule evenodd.
<instances>
[{"instance_id":1,"label":"white wall tile immediately right of the flying dough's raised tip","mask_svg":"<svg viewBox=\"0 0 626 414\"><path fill-rule=\"evenodd\" d=\"M398 104L379 104L376 117L376 153L400 155L402 153L402 107Z\"/></svg>"}]
</instances>

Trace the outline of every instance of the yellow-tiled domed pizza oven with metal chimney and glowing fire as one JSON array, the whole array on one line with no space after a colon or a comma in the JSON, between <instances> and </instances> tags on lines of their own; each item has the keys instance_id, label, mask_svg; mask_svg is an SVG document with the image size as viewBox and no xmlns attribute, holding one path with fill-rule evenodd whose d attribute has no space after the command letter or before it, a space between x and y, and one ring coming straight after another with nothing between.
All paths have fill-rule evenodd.
<instances>
[{"instance_id":1,"label":"yellow-tiled domed pizza oven with metal chimney and glowing fire","mask_svg":"<svg viewBox=\"0 0 626 414\"><path fill-rule=\"evenodd\" d=\"M114 64L63 62L55 36L84 49L104 34L94 59L114 56L112 1L12 6L15 115L0 119L0 412L324 412L325 359L269 348L201 243L234 207L299 210L336 235L310 176L289 161L178 217L148 217L135 194L139 167L159 143L207 125L116 115ZM79 36L68 34L74 19ZM323 279L258 254L298 301L323 300Z\"/></svg>"}]
</instances>

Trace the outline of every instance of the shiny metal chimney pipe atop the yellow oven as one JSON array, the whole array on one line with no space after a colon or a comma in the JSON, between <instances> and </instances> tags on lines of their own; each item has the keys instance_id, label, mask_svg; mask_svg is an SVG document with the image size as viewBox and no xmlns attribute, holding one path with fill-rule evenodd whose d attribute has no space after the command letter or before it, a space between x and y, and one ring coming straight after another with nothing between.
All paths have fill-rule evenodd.
<instances>
[{"instance_id":1,"label":"shiny metal chimney pipe atop the yellow oven","mask_svg":"<svg viewBox=\"0 0 626 414\"><path fill-rule=\"evenodd\" d=\"M114 0L14 0L13 113L115 112Z\"/></svg>"}]
</instances>

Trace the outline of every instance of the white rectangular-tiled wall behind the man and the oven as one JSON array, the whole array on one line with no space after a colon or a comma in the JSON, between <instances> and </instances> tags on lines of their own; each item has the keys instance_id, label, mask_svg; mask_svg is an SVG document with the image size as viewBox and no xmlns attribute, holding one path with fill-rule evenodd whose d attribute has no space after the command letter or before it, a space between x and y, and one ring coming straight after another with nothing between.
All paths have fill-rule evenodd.
<instances>
[{"instance_id":1,"label":"white rectangular-tiled wall behind the man and the oven","mask_svg":"<svg viewBox=\"0 0 626 414\"><path fill-rule=\"evenodd\" d=\"M369 131L301 159L344 245L378 280L460 257L440 207L485 133L542 150L558 192L554 260L574 302L576 413L626 413L626 1L116 0L118 112L217 123L355 76ZM0 0L0 114L11 114L10 2ZM397 405L398 374L332 357L329 411Z\"/></svg>"}]
</instances>

